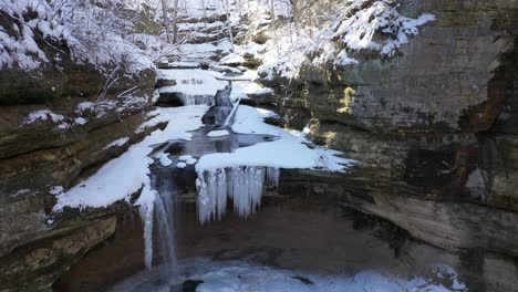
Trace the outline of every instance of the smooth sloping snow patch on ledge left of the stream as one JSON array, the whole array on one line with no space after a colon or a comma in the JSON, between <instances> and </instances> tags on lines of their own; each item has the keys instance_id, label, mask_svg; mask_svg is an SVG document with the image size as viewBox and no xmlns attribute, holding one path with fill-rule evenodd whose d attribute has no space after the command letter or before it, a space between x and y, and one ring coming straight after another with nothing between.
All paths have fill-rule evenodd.
<instances>
[{"instance_id":1,"label":"smooth sloping snow patch on ledge left of the stream","mask_svg":"<svg viewBox=\"0 0 518 292\"><path fill-rule=\"evenodd\" d=\"M106 163L90 178L68 191L60 191L53 210L61 211L65 207L107 207L118 200L130 201L132 194L148 189L148 166L153 164L148 154L153 150L152 146L168 139L190 139L191 134L188 132L201 127L200 116L207 109L208 107L203 105L159 108L159 116L169 121L165 129L153 132L143 142ZM143 191L136 205L153 201L153 198L149 198L152 195L152 191Z\"/></svg>"}]
</instances>

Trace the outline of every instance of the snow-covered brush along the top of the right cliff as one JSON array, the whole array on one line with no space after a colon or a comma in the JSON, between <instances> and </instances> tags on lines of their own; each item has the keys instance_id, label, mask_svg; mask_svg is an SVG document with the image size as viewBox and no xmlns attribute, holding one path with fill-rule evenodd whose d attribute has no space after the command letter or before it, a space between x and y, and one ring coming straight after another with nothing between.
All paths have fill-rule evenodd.
<instances>
[{"instance_id":1,"label":"snow-covered brush along the top of the right cliff","mask_svg":"<svg viewBox=\"0 0 518 292\"><path fill-rule=\"evenodd\" d=\"M339 6L338 11L343 12L323 21L321 27L301 31L287 23L278 28L265 44L265 53L257 56L262 61L260 77L292 80L307 63L336 67L359 64L354 55L365 50L392 58L419 33L419 27L435 20L429 13L415 19L402 15L396 0L349 0Z\"/></svg>"}]
</instances>

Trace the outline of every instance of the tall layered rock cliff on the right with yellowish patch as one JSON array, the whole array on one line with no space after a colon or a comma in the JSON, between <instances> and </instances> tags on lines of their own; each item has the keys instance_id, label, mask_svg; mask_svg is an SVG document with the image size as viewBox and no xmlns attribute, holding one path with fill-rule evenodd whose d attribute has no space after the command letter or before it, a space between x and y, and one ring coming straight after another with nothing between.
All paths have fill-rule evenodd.
<instances>
[{"instance_id":1,"label":"tall layered rock cliff on the right with yellowish patch","mask_svg":"<svg viewBox=\"0 0 518 292\"><path fill-rule=\"evenodd\" d=\"M291 84L287 118L304 116L314 142L359 164L299 173L287 191L334 194L445 249L516 258L518 3L400 2L402 14L436 20L397 55L358 52L343 70L308 63Z\"/></svg>"}]
</instances>

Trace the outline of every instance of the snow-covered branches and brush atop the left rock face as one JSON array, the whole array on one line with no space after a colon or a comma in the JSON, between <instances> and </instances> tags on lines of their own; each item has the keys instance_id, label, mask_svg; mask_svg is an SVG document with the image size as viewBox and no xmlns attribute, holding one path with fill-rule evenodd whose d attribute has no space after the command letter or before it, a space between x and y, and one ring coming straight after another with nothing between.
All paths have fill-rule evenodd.
<instances>
[{"instance_id":1,"label":"snow-covered branches and brush atop the left rock face","mask_svg":"<svg viewBox=\"0 0 518 292\"><path fill-rule=\"evenodd\" d=\"M19 23L0 25L0 69L34 70L51 59L60 61L60 54L45 54L40 48L41 36L66 43L73 61L93 64L103 72L113 64L124 64L127 74L154 67L152 59L124 32L133 24L117 14L116 3L4 0L0 10Z\"/></svg>"}]
</instances>

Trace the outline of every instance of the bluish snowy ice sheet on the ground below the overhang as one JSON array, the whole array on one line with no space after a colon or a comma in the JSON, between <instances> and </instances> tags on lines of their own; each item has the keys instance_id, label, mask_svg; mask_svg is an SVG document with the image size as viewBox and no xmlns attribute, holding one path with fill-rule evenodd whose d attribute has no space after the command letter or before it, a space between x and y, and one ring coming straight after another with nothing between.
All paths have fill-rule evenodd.
<instances>
[{"instance_id":1,"label":"bluish snowy ice sheet on the ground below the overhang","mask_svg":"<svg viewBox=\"0 0 518 292\"><path fill-rule=\"evenodd\" d=\"M198 292L447 292L441 283L424 277L403 278L375 270L359 271L352 275L324 274L303 270L287 270L242 261L197 264L189 279L203 281ZM454 279L455 291L465 291L454 269L444 265ZM300 279L307 279L304 283ZM458 284L458 285L457 285ZM456 289L452 288L452 289Z\"/></svg>"}]
</instances>

